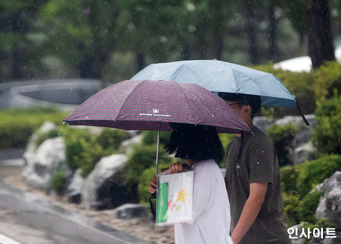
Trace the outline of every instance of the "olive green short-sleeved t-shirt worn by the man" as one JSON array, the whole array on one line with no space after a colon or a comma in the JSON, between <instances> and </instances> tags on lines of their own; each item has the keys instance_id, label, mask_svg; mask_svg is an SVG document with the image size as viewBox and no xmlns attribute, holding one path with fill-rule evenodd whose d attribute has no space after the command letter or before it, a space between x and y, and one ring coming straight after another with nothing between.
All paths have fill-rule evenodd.
<instances>
[{"instance_id":1,"label":"olive green short-sleeved t-shirt worn by the man","mask_svg":"<svg viewBox=\"0 0 341 244\"><path fill-rule=\"evenodd\" d=\"M254 135L244 136L240 169L236 160L241 138L235 137L227 148L225 181L231 207L231 233L249 197L250 184L268 182L261 210L240 244L291 243L283 219L280 166L275 148L257 127L253 127L252 132Z\"/></svg>"}]
</instances>

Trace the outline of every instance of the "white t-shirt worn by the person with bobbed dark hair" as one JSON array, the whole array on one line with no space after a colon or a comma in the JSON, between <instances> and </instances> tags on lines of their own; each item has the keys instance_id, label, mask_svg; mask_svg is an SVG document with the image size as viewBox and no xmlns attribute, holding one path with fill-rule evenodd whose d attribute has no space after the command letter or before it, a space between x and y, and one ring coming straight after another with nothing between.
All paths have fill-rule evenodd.
<instances>
[{"instance_id":1,"label":"white t-shirt worn by the person with bobbed dark hair","mask_svg":"<svg viewBox=\"0 0 341 244\"><path fill-rule=\"evenodd\" d=\"M230 204L224 178L214 160L193 166L192 224L174 225L176 244L233 244Z\"/></svg>"}]
</instances>

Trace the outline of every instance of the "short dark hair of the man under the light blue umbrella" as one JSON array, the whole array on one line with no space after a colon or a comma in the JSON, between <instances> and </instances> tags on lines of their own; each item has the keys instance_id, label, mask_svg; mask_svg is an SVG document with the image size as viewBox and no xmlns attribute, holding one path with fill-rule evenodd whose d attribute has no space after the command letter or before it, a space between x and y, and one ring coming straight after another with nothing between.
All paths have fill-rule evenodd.
<instances>
[{"instance_id":1,"label":"short dark hair of the man under the light blue umbrella","mask_svg":"<svg viewBox=\"0 0 341 244\"><path fill-rule=\"evenodd\" d=\"M250 94L236 94L236 93L218 93L218 95L225 101L238 102L241 105L249 105L251 107L251 117L261 109L261 96Z\"/></svg>"}]
</instances>

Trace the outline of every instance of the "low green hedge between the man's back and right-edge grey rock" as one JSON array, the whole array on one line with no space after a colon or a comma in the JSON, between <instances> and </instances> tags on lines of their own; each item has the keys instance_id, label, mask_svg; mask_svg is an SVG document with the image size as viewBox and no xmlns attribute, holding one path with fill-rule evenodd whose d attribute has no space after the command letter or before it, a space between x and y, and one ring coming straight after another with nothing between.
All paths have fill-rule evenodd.
<instances>
[{"instance_id":1,"label":"low green hedge between the man's back and right-edge grey rock","mask_svg":"<svg viewBox=\"0 0 341 244\"><path fill-rule=\"evenodd\" d=\"M315 210L322 192L312 191L335 171L341 170L341 155L324 155L298 166L281 168L284 218L288 226L315 222Z\"/></svg>"}]
</instances>

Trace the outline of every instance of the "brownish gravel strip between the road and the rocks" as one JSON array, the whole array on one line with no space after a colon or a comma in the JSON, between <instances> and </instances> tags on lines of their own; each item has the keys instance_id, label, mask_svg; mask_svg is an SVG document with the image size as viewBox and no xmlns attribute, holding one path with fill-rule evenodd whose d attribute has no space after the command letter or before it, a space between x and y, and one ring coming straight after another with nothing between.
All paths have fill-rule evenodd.
<instances>
[{"instance_id":1,"label":"brownish gravel strip between the road and the rocks","mask_svg":"<svg viewBox=\"0 0 341 244\"><path fill-rule=\"evenodd\" d=\"M150 221L142 221L140 219L118 219L110 210L87 210L77 204L68 203L65 198L58 197L54 193L46 195L44 191L30 188L24 183L21 177L20 166L1 166L0 180L7 185L34 193L40 198L43 198L54 205L78 213L81 216L91 218L103 225L123 231L139 239L155 244L174 244L173 226L157 227L154 226L154 223Z\"/></svg>"}]
</instances>

